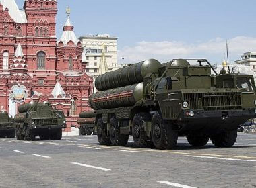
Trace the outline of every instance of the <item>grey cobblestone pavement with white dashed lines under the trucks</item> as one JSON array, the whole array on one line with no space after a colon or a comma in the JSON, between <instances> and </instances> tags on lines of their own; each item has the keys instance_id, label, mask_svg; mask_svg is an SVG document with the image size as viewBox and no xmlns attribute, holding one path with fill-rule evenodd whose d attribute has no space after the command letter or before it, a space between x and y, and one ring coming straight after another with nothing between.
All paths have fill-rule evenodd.
<instances>
[{"instance_id":1,"label":"grey cobblestone pavement with white dashed lines under the trucks","mask_svg":"<svg viewBox=\"0 0 256 188\"><path fill-rule=\"evenodd\" d=\"M256 135L233 148L100 146L97 136L0 140L0 187L256 187Z\"/></svg>"}]
</instances>

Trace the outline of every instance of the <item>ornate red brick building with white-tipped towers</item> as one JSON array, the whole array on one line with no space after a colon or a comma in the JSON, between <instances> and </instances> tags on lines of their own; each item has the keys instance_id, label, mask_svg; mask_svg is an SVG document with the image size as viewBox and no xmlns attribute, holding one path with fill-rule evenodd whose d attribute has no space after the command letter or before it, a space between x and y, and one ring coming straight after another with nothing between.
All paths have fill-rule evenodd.
<instances>
[{"instance_id":1,"label":"ornate red brick building with white-tipped towers","mask_svg":"<svg viewBox=\"0 0 256 188\"><path fill-rule=\"evenodd\" d=\"M24 10L0 0L0 107L13 116L20 103L50 101L65 111L69 131L90 110L93 83L69 16L57 41L56 14L56 0L26 0Z\"/></svg>"}]
</instances>

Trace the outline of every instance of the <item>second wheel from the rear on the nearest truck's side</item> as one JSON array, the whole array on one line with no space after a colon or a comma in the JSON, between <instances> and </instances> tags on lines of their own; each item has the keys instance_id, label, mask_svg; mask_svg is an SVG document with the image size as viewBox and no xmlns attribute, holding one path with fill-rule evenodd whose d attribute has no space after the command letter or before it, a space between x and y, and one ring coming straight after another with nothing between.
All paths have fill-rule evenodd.
<instances>
[{"instance_id":1,"label":"second wheel from the rear on the nearest truck's side","mask_svg":"<svg viewBox=\"0 0 256 188\"><path fill-rule=\"evenodd\" d=\"M113 146L125 146L128 142L129 134L120 134L117 119L110 120L110 141Z\"/></svg>"}]
</instances>

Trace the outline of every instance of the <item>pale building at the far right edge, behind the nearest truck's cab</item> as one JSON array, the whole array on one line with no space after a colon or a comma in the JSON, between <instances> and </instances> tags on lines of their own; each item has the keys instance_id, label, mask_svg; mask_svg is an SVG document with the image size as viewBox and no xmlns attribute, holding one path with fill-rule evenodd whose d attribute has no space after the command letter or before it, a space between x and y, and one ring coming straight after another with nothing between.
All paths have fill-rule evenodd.
<instances>
[{"instance_id":1,"label":"pale building at the far right edge, behind the nearest truck's cab","mask_svg":"<svg viewBox=\"0 0 256 188\"><path fill-rule=\"evenodd\" d=\"M256 52L247 52L241 56L241 60L236 60L235 64L250 66L251 70L256 72Z\"/></svg>"}]
</instances>

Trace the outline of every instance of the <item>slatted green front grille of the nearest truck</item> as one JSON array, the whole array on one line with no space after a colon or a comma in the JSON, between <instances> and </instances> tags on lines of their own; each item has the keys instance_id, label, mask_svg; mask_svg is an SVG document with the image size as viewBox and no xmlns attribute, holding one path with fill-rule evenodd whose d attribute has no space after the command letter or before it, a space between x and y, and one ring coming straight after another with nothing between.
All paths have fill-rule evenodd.
<instances>
[{"instance_id":1,"label":"slatted green front grille of the nearest truck","mask_svg":"<svg viewBox=\"0 0 256 188\"><path fill-rule=\"evenodd\" d=\"M242 109L241 93L183 93L184 101L188 101L190 109L205 111Z\"/></svg>"}]
</instances>

